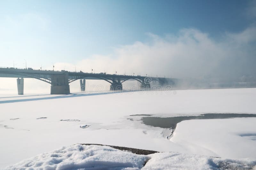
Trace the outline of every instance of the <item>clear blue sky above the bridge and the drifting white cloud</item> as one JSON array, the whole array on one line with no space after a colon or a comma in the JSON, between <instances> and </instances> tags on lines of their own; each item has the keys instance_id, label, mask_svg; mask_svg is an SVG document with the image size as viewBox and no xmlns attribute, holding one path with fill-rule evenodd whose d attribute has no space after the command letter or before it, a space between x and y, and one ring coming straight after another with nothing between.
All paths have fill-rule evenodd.
<instances>
[{"instance_id":1,"label":"clear blue sky above the bridge and the drifting white cloud","mask_svg":"<svg viewBox=\"0 0 256 170\"><path fill-rule=\"evenodd\" d=\"M49 68L52 63L77 65L94 55L118 58L116 48L149 44L151 34L165 39L184 28L218 43L227 33L242 34L254 26L254 9L253 1L235 0L1 1L0 66L14 61L15 67L24 67L24 59L28 66Z\"/></svg>"}]
</instances>

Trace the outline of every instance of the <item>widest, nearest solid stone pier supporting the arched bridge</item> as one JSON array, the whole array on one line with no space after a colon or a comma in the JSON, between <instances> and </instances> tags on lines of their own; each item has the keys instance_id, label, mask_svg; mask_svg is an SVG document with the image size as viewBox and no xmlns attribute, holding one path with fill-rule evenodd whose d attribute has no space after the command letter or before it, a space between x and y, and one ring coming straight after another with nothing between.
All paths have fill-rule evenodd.
<instances>
[{"instance_id":1,"label":"widest, nearest solid stone pier supporting the arched bridge","mask_svg":"<svg viewBox=\"0 0 256 170\"><path fill-rule=\"evenodd\" d=\"M68 85L68 72L65 72L64 74L53 74L51 81L52 95L70 94L70 89Z\"/></svg>"}]
</instances>

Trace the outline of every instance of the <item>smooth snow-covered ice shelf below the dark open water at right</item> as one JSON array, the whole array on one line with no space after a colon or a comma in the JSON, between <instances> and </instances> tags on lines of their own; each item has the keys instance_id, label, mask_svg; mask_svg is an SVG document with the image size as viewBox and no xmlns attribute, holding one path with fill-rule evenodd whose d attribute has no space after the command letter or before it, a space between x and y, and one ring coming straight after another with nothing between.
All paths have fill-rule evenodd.
<instances>
[{"instance_id":1,"label":"smooth snow-covered ice shelf below the dark open water at right","mask_svg":"<svg viewBox=\"0 0 256 170\"><path fill-rule=\"evenodd\" d=\"M256 118L185 120L178 123L171 141L207 149L224 158L256 158L256 142L243 136L256 132ZM188 127L192 127L189 128ZM194 146L193 146L194 145ZM200 147L197 147L200 146Z\"/></svg>"}]
</instances>

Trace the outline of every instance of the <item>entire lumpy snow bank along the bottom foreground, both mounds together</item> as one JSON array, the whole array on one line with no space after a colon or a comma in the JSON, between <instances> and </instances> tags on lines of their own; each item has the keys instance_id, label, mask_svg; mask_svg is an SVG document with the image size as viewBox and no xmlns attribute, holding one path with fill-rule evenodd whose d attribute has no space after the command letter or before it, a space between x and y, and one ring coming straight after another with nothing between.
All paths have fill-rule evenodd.
<instances>
[{"instance_id":1,"label":"entire lumpy snow bank along the bottom foreground, both mounds together","mask_svg":"<svg viewBox=\"0 0 256 170\"><path fill-rule=\"evenodd\" d=\"M40 154L6 169L252 169L255 158L222 159L181 153L137 155L109 146L76 144Z\"/></svg>"}]
</instances>

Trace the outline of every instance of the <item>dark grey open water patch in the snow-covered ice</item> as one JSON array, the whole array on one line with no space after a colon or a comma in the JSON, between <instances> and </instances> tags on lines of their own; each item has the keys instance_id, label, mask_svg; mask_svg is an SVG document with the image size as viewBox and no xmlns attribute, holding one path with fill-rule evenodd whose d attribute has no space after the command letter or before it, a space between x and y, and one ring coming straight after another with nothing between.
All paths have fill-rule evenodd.
<instances>
[{"instance_id":1,"label":"dark grey open water patch in the snow-covered ice","mask_svg":"<svg viewBox=\"0 0 256 170\"><path fill-rule=\"evenodd\" d=\"M247 118L247 117L256 117L256 114L207 113L207 114L201 114L200 116L178 116L178 117L170 117L170 118L143 117L142 121L145 125L149 125L149 126L175 129L177 126L177 123L183 120L227 119L227 118Z\"/></svg>"}]
</instances>

